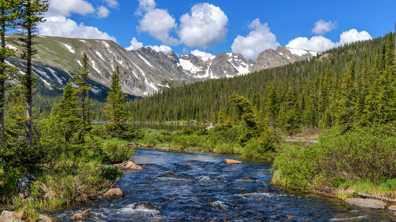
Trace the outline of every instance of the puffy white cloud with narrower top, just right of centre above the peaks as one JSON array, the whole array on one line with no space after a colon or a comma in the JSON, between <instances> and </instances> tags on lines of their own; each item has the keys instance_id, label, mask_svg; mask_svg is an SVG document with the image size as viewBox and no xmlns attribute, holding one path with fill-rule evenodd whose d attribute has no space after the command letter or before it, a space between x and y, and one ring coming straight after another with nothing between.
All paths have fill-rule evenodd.
<instances>
[{"instance_id":1,"label":"puffy white cloud with narrower top, just right of centre above the peaks","mask_svg":"<svg viewBox=\"0 0 396 222\"><path fill-rule=\"evenodd\" d=\"M257 18L248 27L252 31L247 36L238 35L235 38L231 46L233 53L241 53L246 59L256 60L260 52L280 46L268 23L261 24Z\"/></svg>"}]
</instances>

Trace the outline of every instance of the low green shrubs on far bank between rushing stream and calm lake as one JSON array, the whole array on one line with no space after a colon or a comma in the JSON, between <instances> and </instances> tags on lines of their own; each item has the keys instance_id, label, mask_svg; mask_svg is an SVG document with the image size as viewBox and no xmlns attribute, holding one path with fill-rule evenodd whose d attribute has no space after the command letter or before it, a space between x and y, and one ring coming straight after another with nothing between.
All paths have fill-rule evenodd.
<instances>
[{"instance_id":1,"label":"low green shrubs on far bank between rushing stream and calm lake","mask_svg":"<svg viewBox=\"0 0 396 222\"><path fill-rule=\"evenodd\" d=\"M243 154L255 159L272 159L276 151L276 138L263 141L262 137L254 137L241 143L246 130L243 124L223 124L200 131L183 128L174 133L146 128L135 132L134 142L162 150Z\"/></svg>"}]
</instances>

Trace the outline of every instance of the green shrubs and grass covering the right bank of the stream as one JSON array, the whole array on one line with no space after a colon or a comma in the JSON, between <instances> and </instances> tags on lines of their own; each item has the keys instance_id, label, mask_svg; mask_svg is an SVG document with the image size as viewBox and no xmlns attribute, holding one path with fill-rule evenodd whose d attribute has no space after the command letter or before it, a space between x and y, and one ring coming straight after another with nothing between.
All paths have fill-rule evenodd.
<instances>
[{"instance_id":1,"label":"green shrubs and grass covering the right bank of the stream","mask_svg":"<svg viewBox=\"0 0 396 222\"><path fill-rule=\"evenodd\" d=\"M396 196L393 127L343 132L334 128L309 146L283 143L273 165L273 183L312 193L356 197L358 192Z\"/></svg>"}]
</instances>

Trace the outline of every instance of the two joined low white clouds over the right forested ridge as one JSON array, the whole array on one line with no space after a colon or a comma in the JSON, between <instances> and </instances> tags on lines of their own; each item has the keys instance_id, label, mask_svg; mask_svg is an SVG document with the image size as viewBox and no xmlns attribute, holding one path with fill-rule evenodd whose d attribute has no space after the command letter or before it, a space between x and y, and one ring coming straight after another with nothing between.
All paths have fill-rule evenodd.
<instances>
[{"instance_id":1,"label":"two joined low white clouds over the right forested ridge","mask_svg":"<svg viewBox=\"0 0 396 222\"><path fill-rule=\"evenodd\" d=\"M340 41L337 43L324 38L323 36L313 36L311 39L306 37L299 37L290 40L286 47L294 49L306 49L316 52L322 52L327 49L342 46L347 43L353 43L356 41L370 40L373 39L372 36L367 31L357 31L356 29L350 29L348 31L343 31L340 35Z\"/></svg>"}]
</instances>

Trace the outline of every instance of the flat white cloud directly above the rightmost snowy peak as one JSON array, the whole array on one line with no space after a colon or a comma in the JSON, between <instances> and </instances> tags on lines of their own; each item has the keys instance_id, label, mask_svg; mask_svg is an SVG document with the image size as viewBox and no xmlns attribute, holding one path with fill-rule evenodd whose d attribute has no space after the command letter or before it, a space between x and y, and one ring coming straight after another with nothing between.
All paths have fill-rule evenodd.
<instances>
[{"instance_id":1,"label":"flat white cloud directly above the rightmost snowy peak","mask_svg":"<svg viewBox=\"0 0 396 222\"><path fill-rule=\"evenodd\" d=\"M307 37L299 37L290 40L286 47L293 49L306 49L315 52L323 52L327 49L335 47L336 44L323 36L313 36L311 39Z\"/></svg>"}]
</instances>

